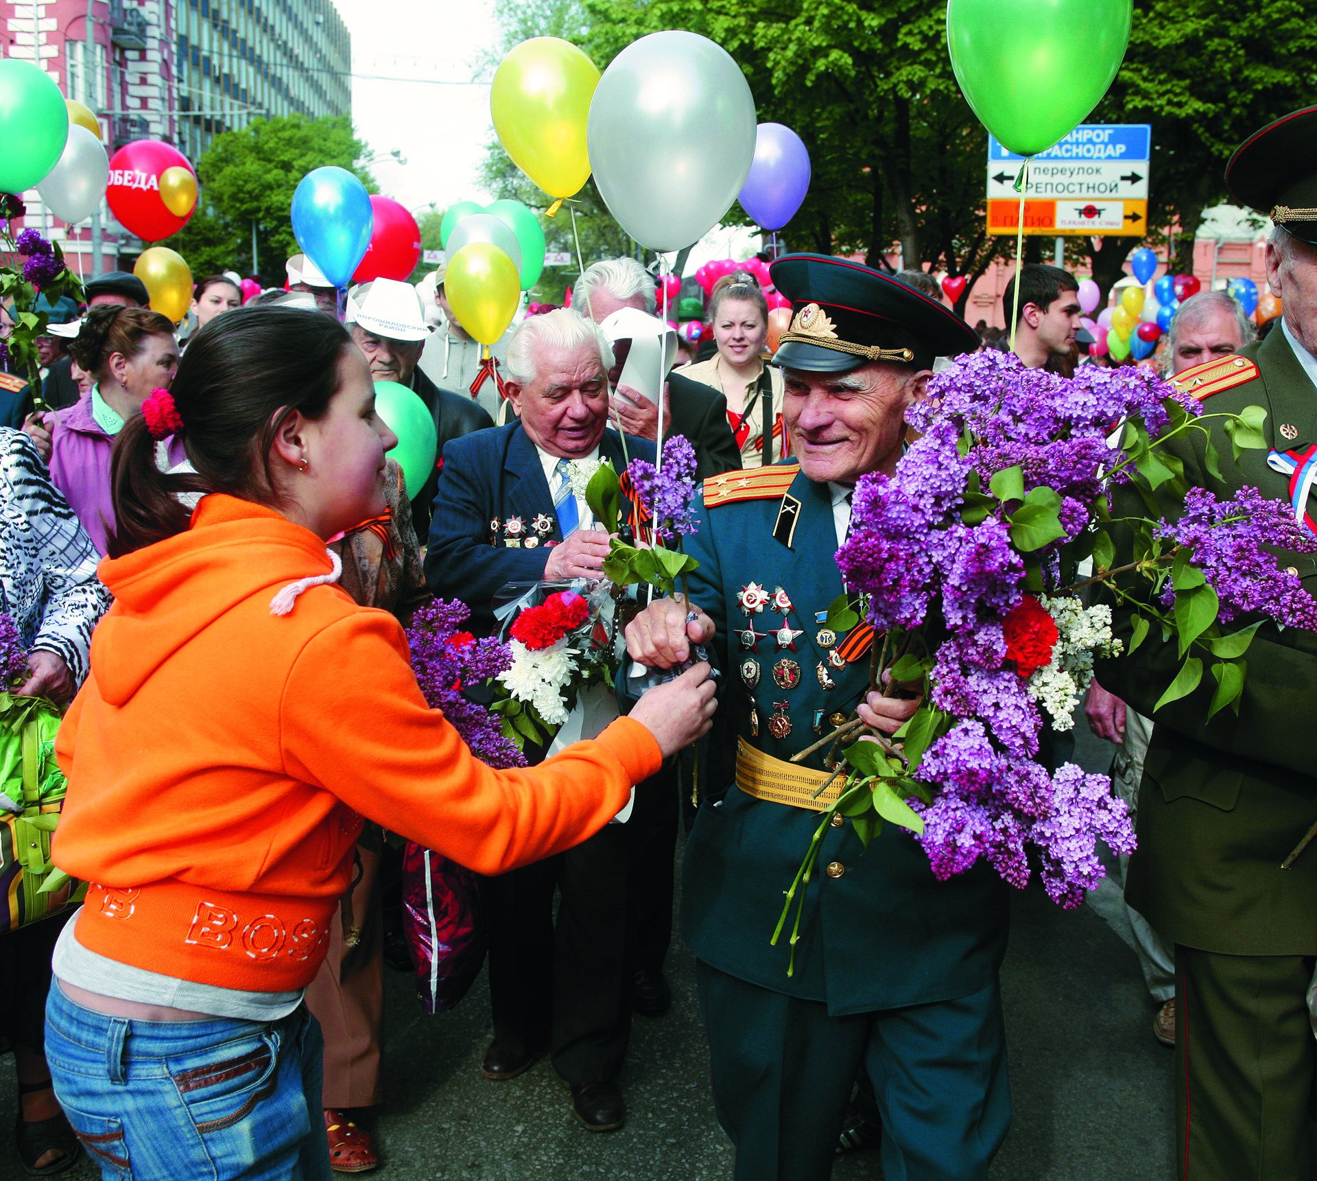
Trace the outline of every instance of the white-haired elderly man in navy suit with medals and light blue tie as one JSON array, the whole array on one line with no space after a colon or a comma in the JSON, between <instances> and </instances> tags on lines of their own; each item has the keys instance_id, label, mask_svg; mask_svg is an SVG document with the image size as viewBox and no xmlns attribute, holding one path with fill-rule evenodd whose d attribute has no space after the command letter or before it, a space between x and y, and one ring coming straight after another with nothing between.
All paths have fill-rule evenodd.
<instances>
[{"instance_id":1,"label":"white-haired elderly man in navy suit with medals and light blue tie","mask_svg":"<svg viewBox=\"0 0 1317 1181\"><path fill-rule=\"evenodd\" d=\"M585 480L601 460L620 473L628 456L655 457L652 443L606 426L611 364L608 343L574 311L531 316L503 365L518 419L444 448L425 577L436 594L470 605L473 630L495 630L494 598L507 583L602 577L608 536L594 529ZM626 1119L618 1076L635 975L627 896L631 848L652 811L647 788L627 824L487 879L494 1040L483 1073L512 1078L549 1049L591 1131Z\"/></svg>"}]
</instances>

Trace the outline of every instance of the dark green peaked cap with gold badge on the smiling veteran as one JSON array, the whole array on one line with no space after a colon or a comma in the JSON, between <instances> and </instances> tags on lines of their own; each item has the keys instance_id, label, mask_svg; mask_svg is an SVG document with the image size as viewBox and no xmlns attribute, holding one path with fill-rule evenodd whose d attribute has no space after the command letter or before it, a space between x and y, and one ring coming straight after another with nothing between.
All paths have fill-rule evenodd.
<instances>
[{"instance_id":1,"label":"dark green peaked cap with gold badge on the smiling veteran","mask_svg":"<svg viewBox=\"0 0 1317 1181\"><path fill-rule=\"evenodd\" d=\"M979 333L943 303L849 258L784 254L773 285L792 301L792 323L773 364L847 373L869 361L932 366L979 348Z\"/></svg>"}]
</instances>

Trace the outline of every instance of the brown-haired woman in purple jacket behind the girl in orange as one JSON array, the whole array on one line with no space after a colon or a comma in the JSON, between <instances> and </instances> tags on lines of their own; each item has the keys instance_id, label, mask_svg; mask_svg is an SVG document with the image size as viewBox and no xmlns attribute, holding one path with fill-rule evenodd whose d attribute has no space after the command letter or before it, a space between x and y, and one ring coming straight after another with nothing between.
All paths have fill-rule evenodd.
<instances>
[{"instance_id":1,"label":"brown-haired woman in purple jacket behind the girl in orange","mask_svg":"<svg viewBox=\"0 0 1317 1181\"><path fill-rule=\"evenodd\" d=\"M109 453L115 435L154 389L169 389L178 369L174 326L144 307L94 307L68 352L95 385L67 410L47 415L50 478L104 554L115 531ZM161 444L165 467L186 457L174 438Z\"/></svg>"}]
</instances>

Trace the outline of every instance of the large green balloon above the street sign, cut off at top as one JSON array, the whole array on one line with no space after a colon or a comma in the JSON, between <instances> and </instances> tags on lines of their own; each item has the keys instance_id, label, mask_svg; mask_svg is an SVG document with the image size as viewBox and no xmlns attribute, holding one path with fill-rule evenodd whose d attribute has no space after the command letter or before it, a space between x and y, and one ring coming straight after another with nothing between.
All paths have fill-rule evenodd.
<instances>
[{"instance_id":1,"label":"large green balloon above the street sign, cut off at top","mask_svg":"<svg viewBox=\"0 0 1317 1181\"><path fill-rule=\"evenodd\" d=\"M948 0L951 69L1001 145L1035 156L1106 94L1131 20L1133 0Z\"/></svg>"}]
</instances>

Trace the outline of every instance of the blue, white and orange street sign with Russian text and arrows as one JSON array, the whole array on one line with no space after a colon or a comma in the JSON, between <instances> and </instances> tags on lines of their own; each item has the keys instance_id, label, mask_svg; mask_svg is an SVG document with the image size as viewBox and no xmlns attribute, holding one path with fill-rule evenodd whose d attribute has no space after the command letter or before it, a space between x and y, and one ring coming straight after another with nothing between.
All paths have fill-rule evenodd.
<instances>
[{"instance_id":1,"label":"blue, white and orange street sign with Russian text and arrows","mask_svg":"<svg viewBox=\"0 0 1317 1181\"><path fill-rule=\"evenodd\" d=\"M1025 233L1142 235L1147 229L1150 124L1084 124L1029 165ZM988 138L988 232L1019 225L1023 158Z\"/></svg>"}]
</instances>

